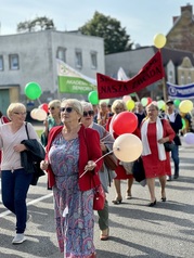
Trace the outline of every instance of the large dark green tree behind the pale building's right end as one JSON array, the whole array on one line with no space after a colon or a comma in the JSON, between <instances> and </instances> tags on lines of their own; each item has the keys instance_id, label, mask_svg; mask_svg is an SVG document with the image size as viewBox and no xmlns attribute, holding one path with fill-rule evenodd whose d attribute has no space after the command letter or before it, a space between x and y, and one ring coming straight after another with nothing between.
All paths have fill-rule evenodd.
<instances>
[{"instance_id":1,"label":"large dark green tree behind the pale building's right end","mask_svg":"<svg viewBox=\"0 0 194 258\"><path fill-rule=\"evenodd\" d=\"M78 28L83 35L98 36L104 38L105 54L130 50L130 36L126 28L121 28L120 22L111 16L105 16L95 11L93 18Z\"/></svg>"}]
</instances>

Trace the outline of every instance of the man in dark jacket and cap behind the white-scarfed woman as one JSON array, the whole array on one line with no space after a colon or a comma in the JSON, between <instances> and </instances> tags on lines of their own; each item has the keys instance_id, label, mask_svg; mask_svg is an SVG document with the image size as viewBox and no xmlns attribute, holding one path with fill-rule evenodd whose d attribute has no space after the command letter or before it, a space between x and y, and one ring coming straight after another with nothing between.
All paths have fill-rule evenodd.
<instances>
[{"instance_id":1,"label":"man in dark jacket and cap behind the white-scarfed woman","mask_svg":"<svg viewBox=\"0 0 194 258\"><path fill-rule=\"evenodd\" d=\"M172 100L168 100L166 102L166 105L167 105L167 112L166 112L165 118L167 118L169 120L170 126L172 127L173 131L176 132L176 137L173 139L176 146L171 151L171 158L173 159L173 164L174 164L173 179L178 179L179 178L179 146L181 145L181 141L179 138L179 130L182 128L182 117L174 109ZM171 180L171 178L169 178L169 181L170 180Z\"/></svg>"}]
</instances>

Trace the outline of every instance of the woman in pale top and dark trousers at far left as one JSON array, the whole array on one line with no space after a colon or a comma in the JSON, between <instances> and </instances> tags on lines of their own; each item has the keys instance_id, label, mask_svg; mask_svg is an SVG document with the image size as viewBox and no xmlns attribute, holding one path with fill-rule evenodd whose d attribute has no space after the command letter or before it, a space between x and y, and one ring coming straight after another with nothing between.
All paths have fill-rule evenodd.
<instances>
[{"instance_id":1,"label":"woman in pale top and dark trousers at far left","mask_svg":"<svg viewBox=\"0 0 194 258\"><path fill-rule=\"evenodd\" d=\"M2 152L1 163L1 191L2 203L16 217L16 234L12 244L22 244L27 220L26 196L33 173L28 173L22 166L21 153L26 146L21 142L27 140L25 128L26 107L22 103L12 103L7 111L9 122L0 126L0 149ZM28 122L30 139L39 138Z\"/></svg>"}]
</instances>

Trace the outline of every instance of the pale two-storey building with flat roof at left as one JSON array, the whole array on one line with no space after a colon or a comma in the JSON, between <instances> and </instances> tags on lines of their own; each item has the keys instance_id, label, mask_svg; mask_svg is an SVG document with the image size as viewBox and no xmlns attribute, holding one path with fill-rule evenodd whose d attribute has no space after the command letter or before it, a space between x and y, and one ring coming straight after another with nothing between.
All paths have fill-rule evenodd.
<instances>
[{"instance_id":1,"label":"pale two-storey building with flat roof at left","mask_svg":"<svg viewBox=\"0 0 194 258\"><path fill-rule=\"evenodd\" d=\"M93 79L105 73L100 37L56 30L0 36L0 109L4 113L11 102L26 104L24 89L31 81L41 87L42 103L59 99L56 57Z\"/></svg>"}]
</instances>

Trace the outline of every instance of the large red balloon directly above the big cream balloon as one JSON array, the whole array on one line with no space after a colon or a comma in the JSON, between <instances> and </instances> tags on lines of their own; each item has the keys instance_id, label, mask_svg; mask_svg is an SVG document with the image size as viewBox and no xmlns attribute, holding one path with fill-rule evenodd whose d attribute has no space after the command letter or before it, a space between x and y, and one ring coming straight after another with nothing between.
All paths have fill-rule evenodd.
<instances>
[{"instance_id":1,"label":"large red balloon directly above the big cream balloon","mask_svg":"<svg viewBox=\"0 0 194 258\"><path fill-rule=\"evenodd\" d=\"M117 136L132 133L138 127L138 117L132 112L119 113L113 121L113 130Z\"/></svg>"}]
</instances>

